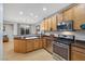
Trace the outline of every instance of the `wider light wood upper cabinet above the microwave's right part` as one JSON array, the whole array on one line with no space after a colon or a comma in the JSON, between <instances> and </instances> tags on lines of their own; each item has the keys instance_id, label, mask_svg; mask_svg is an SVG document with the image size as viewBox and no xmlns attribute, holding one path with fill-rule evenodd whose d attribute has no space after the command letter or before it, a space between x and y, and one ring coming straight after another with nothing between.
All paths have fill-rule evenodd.
<instances>
[{"instance_id":1,"label":"wider light wood upper cabinet above the microwave's right part","mask_svg":"<svg viewBox=\"0 0 85 64\"><path fill-rule=\"evenodd\" d=\"M70 8L66 11L63 11L63 21L70 21L73 20L73 8Z\"/></svg>"}]
</instances>

